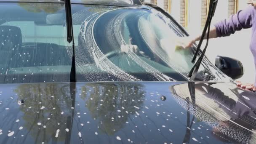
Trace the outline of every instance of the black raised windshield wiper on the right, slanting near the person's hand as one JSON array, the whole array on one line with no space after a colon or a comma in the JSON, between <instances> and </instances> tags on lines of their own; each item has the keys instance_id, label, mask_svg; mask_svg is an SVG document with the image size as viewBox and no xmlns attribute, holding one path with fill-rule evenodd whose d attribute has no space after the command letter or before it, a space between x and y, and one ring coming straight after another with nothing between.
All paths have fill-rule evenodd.
<instances>
[{"instance_id":1,"label":"black raised windshield wiper on the right, slanting near the person's hand","mask_svg":"<svg viewBox=\"0 0 256 144\"><path fill-rule=\"evenodd\" d=\"M208 33L207 33L206 45L205 45L205 48L203 49L203 52L202 52L201 56L199 57L199 59L197 59L197 62L195 63L195 65L192 67L192 69L189 72L189 75L188 75L188 77L190 77L189 81L193 81L195 79L195 76L196 76L196 74L198 72L198 69L199 69L199 67L200 67L200 65L202 63L203 56L205 55L205 51L206 51L206 48L207 48L208 42L209 42L211 20L212 20L212 18L214 16L217 3L218 3L218 0L211 0L210 1L209 11L208 11L208 16L207 16L207 20L206 20L206 23L205 23L205 27L203 29L203 33L202 33L201 39L199 41L199 44L197 46L197 49L195 51L194 57L192 59L192 63L195 63L195 59L196 59L197 54L198 54L198 52L200 50L200 47L201 47L201 45L203 43L203 39L205 37L206 30L207 30Z\"/></svg>"}]
</instances>

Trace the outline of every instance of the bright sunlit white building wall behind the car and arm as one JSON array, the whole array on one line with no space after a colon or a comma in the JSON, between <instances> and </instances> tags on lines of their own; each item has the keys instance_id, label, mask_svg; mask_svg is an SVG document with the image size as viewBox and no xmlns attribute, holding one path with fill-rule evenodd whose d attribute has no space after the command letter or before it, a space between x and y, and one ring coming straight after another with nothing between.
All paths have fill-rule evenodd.
<instances>
[{"instance_id":1,"label":"bright sunlit white building wall behind the car and arm","mask_svg":"<svg viewBox=\"0 0 256 144\"><path fill-rule=\"evenodd\" d=\"M171 13L188 32L189 35L202 32L208 14L209 0L141 0L155 3ZM247 8L247 0L219 0L212 24L229 19L237 11ZM239 80L254 83L255 66L249 49L251 29L242 29L229 37L216 38L209 41L206 56L214 64L216 56L228 56L240 60L245 74Z\"/></svg>"}]
</instances>

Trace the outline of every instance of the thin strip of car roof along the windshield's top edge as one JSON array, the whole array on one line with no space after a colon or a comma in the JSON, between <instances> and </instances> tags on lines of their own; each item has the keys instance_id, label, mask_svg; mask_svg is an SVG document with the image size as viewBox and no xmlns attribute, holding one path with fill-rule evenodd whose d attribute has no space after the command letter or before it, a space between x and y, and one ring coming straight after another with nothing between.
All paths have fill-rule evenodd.
<instances>
[{"instance_id":1,"label":"thin strip of car roof along the windshield's top edge","mask_svg":"<svg viewBox=\"0 0 256 144\"><path fill-rule=\"evenodd\" d=\"M64 0L2 0L3 2L21 2L21 3L64 3ZM116 5L116 6L140 6L140 0L71 0L71 3L91 4L91 5Z\"/></svg>"}]
</instances>

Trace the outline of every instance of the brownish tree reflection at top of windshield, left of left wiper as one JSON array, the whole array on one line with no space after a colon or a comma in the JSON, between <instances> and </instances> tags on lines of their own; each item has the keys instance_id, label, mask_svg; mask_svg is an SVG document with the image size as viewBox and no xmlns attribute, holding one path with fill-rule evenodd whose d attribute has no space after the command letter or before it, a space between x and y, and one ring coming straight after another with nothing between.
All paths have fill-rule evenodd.
<instances>
[{"instance_id":1,"label":"brownish tree reflection at top of windshield, left of left wiper","mask_svg":"<svg viewBox=\"0 0 256 144\"><path fill-rule=\"evenodd\" d=\"M20 0L26 1L26 0ZM29 12L33 13L56 13L61 8L64 8L64 4L56 3L18 3L22 8L26 9Z\"/></svg>"}]
</instances>

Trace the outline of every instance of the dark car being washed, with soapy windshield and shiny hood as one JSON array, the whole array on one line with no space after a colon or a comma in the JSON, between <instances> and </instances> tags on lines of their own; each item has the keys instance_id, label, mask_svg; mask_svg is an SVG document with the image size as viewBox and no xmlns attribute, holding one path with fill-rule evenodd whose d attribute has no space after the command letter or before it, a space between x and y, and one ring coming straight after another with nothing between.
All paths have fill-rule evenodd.
<instances>
[{"instance_id":1,"label":"dark car being washed, with soapy windshield and shiny hood","mask_svg":"<svg viewBox=\"0 0 256 144\"><path fill-rule=\"evenodd\" d=\"M0 1L0 143L256 143L256 94L240 61L204 56L195 81L187 32L139 0ZM200 52L201 53L201 52ZM72 75L74 76L74 75Z\"/></svg>"}]
</instances>

